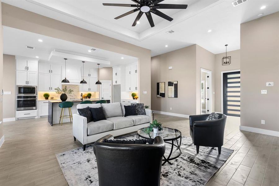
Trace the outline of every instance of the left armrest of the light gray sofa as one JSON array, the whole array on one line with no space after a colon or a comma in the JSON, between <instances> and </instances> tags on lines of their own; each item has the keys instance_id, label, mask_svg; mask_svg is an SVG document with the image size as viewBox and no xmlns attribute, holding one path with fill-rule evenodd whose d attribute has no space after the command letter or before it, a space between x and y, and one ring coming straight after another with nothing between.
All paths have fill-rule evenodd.
<instances>
[{"instance_id":1,"label":"left armrest of the light gray sofa","mask_svg":"<svg viewBox=\"0 0 279 186\"><path fill-rule=\"evenodd\" d=\"M73 136L83 145L87 143L87 118L73 114Z\"/></svg>"}]
</instances>

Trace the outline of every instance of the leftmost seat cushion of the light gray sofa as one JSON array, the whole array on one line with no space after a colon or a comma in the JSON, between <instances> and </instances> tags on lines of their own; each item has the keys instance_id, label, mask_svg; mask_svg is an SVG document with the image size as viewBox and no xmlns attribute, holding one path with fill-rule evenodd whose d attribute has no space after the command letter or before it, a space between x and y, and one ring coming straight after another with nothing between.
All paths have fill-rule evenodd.
<instances>
[{"instance_id":1,"label":"leftmost seat cushion of the light gray sofa","mask_svg":"<svg viewBox=\"0 0 279 186\"><path fill-rule=\"evenodd\" d=\"M113 122L100 120L97 122L87 123L87 135L98 134L105 131L113 130Z\"/></svg>"}]
</instances>

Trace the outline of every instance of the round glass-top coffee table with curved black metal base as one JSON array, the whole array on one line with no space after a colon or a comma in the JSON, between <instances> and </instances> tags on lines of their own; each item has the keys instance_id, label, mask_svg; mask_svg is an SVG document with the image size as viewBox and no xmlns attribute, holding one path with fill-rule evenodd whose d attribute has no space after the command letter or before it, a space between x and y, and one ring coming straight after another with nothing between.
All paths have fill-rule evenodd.
<instances>
[{"instance_id":1,"label":"round glass-top coffee table with curved black metal base","mask_svg":"<svg viewBox=\"0 0 279 186\"><path fill-rule=\"evenodd\" d=\"M178 158L181 154L181 150L180 150L180 145L181 145L181 132L177 129L172 129L169 127L163 127L163 131L158 131L158 133L145 133L143 131L144 128L141 128L137 131L137 138L141 137L144 139L154 139L157 135L160 135L165 143L167 144L171 144L171 148L170 148L170 154L168 155L168 157L165 157L165 155L163 156L163 163L162 165L165 165L166 162L168 162L170 165L172 165L172 163L170 163L170 160L174 160L175 158ZM179 140L180 139L180 140ZM176 142L176 144L175 144ZM171 156L173 153L173 148L176 148L176 150L178 151L175 156Z\"/></svg>"}]
</instances>

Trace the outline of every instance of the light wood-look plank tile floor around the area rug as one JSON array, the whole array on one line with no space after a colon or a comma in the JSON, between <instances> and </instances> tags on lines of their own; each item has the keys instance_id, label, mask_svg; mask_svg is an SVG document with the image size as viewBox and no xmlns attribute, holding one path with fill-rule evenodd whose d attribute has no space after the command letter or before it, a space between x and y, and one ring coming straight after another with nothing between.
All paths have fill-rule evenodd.
<instances>
[{"instance_id":1,"label":"light wood-look plank tile floor around the area rug","mask_svg":"<svg viewBox=\"0 0 279 186\"><path fill-rule=\"evenodd\" d=\"M162 114L155 114L155 119L190 137L188 119ZM228 117L223 147L235 151L206 186L278 186L279 138L239 131L233 121ZM68 185L55 153L82 147L73 141L71 123L50 126L47 118L5 122L4 135L1 186Z\"/></svg>"}]
</instances>

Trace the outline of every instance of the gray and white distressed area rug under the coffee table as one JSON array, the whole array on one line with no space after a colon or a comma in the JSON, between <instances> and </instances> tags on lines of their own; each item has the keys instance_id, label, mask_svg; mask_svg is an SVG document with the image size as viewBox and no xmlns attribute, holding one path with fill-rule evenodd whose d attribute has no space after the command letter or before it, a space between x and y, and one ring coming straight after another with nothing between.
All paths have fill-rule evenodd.
<instances>
[{"instance_id":1,"label":"gray and white distressed area rug under the coffee table","mask_svg":"<svg viewBox=\"0 0 279 186\"><path fill-rule=\"evenodd\" d=\"M118 137L118 139L135 138L136 133ZM170 146L166 144L165 156L169 154L168 149ZM221 154L218 155L218 148L200 147L199 154L197 154L196 146L188 137L182 137L180 149L181 155L170 161L173 165L166 162L162 166L162 186L205 185L233 152L231 149L222 148ZM178 152L173 152L174 156L175 153ZM99 185L93 145L87 146L85 151L77 148L56 154L56 158L69 186Z\"/></svg>"}]
</instances>

